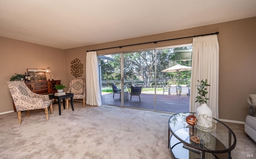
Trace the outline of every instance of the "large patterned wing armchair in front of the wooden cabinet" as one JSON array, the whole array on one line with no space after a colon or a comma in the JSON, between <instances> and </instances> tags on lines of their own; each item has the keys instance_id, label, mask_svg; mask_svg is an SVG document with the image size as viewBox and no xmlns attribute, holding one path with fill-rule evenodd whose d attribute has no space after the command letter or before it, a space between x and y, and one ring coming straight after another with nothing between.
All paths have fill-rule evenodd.
<instances>
[{"instance_id":1,"label":"large patterned wing armchair in front of the wooden cabinet","mask_svg":"<svg viewBox=\"0 0 256 159\"><path fill-rule=\"evenodd\" d=\"M44 109L46 114L46 120L48 120L48 107L52 110L52 100L48 95L41 95L32 92L24 81L10 81L8 82L12 99L16 110L18 112L18 122L21 123L21 111L27 111L27 117L29 117L29 111L34 109Z\"/></svg>"}]
</instances>

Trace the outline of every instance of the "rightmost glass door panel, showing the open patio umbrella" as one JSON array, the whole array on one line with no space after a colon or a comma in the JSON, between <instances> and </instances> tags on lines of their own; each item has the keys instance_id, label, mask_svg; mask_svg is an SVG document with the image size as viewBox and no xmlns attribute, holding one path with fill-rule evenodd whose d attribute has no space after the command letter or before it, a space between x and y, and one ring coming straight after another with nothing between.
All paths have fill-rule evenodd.
<instances>
[{"instance_id":1,"label":"rightmost glass door panel, showing the open patio umbrella","mask_svg":"<svg viewBox=\"0 0 256 159\"><path fill-rule=\"evenodd\" d=\"M156 52L156 111L189 111L192 46ZM187 68L187 71L177 67Z\"/></svg>"}]
</instances>

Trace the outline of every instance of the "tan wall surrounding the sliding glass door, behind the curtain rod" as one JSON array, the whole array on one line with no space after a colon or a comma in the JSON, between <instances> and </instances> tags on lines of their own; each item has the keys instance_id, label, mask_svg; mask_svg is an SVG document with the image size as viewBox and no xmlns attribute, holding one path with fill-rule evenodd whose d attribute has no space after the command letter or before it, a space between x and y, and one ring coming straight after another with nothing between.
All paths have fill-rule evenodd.
<instances>
[{"instance_id":1,"label":"tan wall surrounding the sliding glass door, behind the curtain rod","mask_svg":"<svg viewBox=\"0 0 256 159\"><path fill-rule=\"evenodd\" d=\"M220 74L219 74L219 117L220 119L245 121L248 94L256 94L256 17L208 26L200 26L175 32L167 32L151 36L119 40L104 44L84 46L65 50L66 77L74 78L70 74L70 62L74 58L81 58L85 66L86 50L95 50L124 46L143 42L152 42L200 34L219 32L220 46ZM192 38L144 44L131 47L115 48L97 51L97 54L127 52L140 49L157 48L192 43ZM84 75L85 77L85 75Z\"/></svg>"}]
</instances>

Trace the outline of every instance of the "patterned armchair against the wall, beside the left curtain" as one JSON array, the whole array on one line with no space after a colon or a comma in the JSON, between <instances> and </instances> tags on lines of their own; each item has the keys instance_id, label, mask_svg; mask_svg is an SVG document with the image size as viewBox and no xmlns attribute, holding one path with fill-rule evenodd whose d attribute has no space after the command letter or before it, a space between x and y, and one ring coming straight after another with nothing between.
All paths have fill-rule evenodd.
<instances>
[{"instance_id":1,"label":"patterned armchair against the wall, beside the left curtain","mask_svg":"<svg viewBox=\"0 0 256 159\"><path fill-rule=\"evenodd\" d=\"M83 99L83 106L85 107L85 79L70 79L67 93L73 93L73 99ZM67 109L69 99L66 101Z\"/></svg>"}]
</instances>

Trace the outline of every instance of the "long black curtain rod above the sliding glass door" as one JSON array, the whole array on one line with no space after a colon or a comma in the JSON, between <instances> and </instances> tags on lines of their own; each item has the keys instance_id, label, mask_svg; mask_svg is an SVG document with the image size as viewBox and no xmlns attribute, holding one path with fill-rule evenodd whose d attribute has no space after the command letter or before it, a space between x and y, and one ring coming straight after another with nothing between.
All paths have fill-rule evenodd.
<instances>
[{"instance_id":1,"label":"long black curtain rod above the sliding glass door","mask_svg":"<svg viewBox=\"0 0 256 159\"><path fill-rule=\"evenodd\" d=\"M195 36L187 36L187 37L182 37L182 38L174 38L174 39L167 39L167 40L159 40L159 41L154 41L154 42L144 42L144 43L139 43L139 44L131 44L131 45L124 45L124 46L116 46L116 47L112 47L112 48L104 48L104 49L97 49L97 50L87 50L86 52L92 52L92 51L98 51L98 50L106 50L106 49L113 49L113 48L122 48L122 47L126 47L126 46L134 46L134 45L142 45L142 44L149 44L149 43L158 43L158 42L165 42L165 41L170 41L170 40L178 40L178 39L185 39L185 38L195 38L195 37L199 37L199 36L208 36L208 35L218 35L219 32L215 32L215 33L210 33L210 34L202 34L202 35L195 35Z\"/></svg>"}]
</instances>

